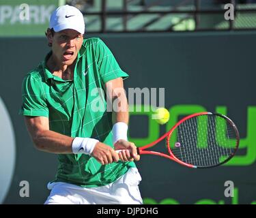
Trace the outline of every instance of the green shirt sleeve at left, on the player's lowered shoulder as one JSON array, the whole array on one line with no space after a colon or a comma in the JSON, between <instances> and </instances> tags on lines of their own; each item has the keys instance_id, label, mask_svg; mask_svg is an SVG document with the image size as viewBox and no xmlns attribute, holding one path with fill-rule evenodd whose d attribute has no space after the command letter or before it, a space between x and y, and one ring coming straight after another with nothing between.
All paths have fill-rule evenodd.
<instances>
[{"instance_id":1,"label":"green shirt sleeve at left, on the player's lowered shoulder","mask_svg":"<svg viewBox=\"0 0 256 218\"><path fill-rule=\"evenodd\" d=\"M42 81L40 78L33 78L28 75L23 80L22 99L23 103L19 114L24 116L46 116L48 117L48 107L42 97Z\"/></svg>"}]
</instances>

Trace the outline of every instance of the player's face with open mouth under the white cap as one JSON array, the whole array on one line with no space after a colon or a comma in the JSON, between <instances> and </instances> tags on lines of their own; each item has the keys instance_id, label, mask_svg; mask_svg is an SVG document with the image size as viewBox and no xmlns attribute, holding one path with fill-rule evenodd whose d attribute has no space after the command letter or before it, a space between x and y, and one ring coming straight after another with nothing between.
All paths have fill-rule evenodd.
<instances>
[{"instance_id":1,"label":"player's face with open mouth under the white cap","mask_svg":"<svg viewBox=\"0 0 256 218\"><path fill-rule=\"evenodd\" d=\"M83 35L73 29L64 29L53 35L52 50L62 65L72 65L83 44Z\"/></svg>"}]
</instances>

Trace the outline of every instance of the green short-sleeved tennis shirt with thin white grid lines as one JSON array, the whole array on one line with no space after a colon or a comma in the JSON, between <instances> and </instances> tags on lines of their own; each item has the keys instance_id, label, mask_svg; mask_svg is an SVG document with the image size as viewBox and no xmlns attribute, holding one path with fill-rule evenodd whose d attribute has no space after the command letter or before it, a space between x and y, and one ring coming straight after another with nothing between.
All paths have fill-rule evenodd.
<instances>
[{"instance_id":1,"label":"green short-sleeved tennis shirt with thin white grid lines","mask_svg":"<svg viewBox=\"0 0 256 218\"><path fill-rule=\"evenodd\" d=\"M54 76L44 61L23 80L23 104L20 114L46 116L50 129L71 137L96 138L113 147L112 112L106 108L104 84L115 78L127 78L109 48L99 38L83 41L74 67L74 80ZM85 154L58 155L55 182L83 187L112 183L125 174L134 162L102 166Z\"/></svg>"}]
</instances>

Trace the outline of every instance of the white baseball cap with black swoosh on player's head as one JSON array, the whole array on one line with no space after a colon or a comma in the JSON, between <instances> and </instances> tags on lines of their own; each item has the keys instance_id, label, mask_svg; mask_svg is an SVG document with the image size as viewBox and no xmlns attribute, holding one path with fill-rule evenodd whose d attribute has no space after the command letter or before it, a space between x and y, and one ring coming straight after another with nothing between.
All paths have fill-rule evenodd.
<instances>
[{"instance_id":1,"label":"white baseball cap with black swoosh on player's head","mask_svg":"<svg viewBox=\"0 0 256 218\"><path fill-rule=\"evenodd\" d=\"M53 28L55 32L74 29L83 34L85 33L85 20L83 14L76 7L63 5L51 14L49 28Z\"/></svg>"}]
</instances>

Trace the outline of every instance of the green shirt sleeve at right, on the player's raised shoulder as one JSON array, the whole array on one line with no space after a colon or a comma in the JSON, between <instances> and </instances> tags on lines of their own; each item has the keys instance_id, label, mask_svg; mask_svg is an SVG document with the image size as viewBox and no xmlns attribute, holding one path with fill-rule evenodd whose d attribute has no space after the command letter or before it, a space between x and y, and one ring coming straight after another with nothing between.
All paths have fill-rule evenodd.
<instances>
[{"instance_id":1,"label":"green shirt sleeve at right, on the player's raised shoulder","mask_svg":"<svg viewBox=\"0 0 256 218\"><path fill-rule=\"evenodd\" d=\"M100 78L104 83L119 77L128 78L128 74L119 67L111 50L100 39L96 44L96 58L98 60Z\"/></svg>"}]
</instances>

